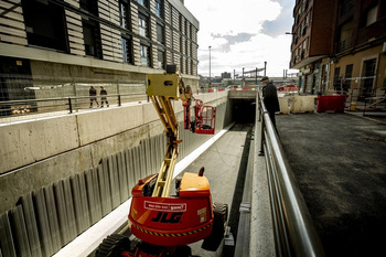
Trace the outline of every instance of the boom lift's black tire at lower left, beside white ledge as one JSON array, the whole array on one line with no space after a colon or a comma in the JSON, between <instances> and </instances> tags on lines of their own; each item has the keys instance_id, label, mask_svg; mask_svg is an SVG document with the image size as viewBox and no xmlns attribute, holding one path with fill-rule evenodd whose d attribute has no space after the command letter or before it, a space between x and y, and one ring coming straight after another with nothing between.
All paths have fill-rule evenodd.
<instances>
[{"instance_id":1,"label":"boom lift's black tire at lower left, beside white ledge","mask_svg":"<svg viewBox=\"0 0 386 257\"><path fill-rule=\"evenodd\" d=\"M106 237L98 246L95 257L118 257L122 251L130 250L130 240L128 237L112 234Z\"/></svg>"}]
</instances>

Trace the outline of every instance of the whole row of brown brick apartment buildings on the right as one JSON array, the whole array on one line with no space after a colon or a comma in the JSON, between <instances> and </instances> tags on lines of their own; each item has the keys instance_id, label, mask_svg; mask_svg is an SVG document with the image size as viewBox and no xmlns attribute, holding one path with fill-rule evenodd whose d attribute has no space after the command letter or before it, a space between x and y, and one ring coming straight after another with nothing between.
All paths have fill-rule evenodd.
<instances>
[{"instance_id":1,"label":"whole row of brown brick apartment buildings on the right","mask_svg":"<svg viewBox=\"0 0 386 257\"><path fill-rule=\"evenodd\" d=\"M364 98L386 87L386 2L298 0L291 68L301 92L350 92Z\"/></svg>"}]
</instances>

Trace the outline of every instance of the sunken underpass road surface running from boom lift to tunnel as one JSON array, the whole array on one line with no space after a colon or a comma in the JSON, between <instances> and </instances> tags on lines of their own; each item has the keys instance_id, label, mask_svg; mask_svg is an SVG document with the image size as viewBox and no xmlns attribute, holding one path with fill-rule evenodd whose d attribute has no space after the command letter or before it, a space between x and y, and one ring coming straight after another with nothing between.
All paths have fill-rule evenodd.
<instances>
[{"instance_id":1,"label":"sunken underpass road surface running from boom lift to tunnel","mask_svg":"<svg viewBox=\"0 0 386 257\"><path fill-rule=\"evenodd\" d=\"M245 172L250 147L253 125L235 125L207 151L199 157L185 172L197 172L205 168L204 175L208 179L213 202L228 204L228 225L236 238L238 226L238 210L243 197ZM190 245L193 256L214 257L233 256L234 247L219 246L217 251L201 248L202 240Z\"/></svg>"}]
</instances>

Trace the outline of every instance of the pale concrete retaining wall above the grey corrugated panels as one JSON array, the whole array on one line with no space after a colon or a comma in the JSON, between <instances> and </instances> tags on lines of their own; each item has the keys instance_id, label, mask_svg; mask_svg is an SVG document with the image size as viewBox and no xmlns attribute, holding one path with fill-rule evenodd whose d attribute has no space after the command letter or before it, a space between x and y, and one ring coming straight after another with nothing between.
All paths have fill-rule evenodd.
<instances>
[{"instance_id":1,"label":"pale concrete retaining wall above the grey corrugated panels","mask_svg":"<svg viewBox=\"0 0 386 257\"><path fill-rule=\"evenodd\" d=\"M197 98L219 106L227 101L227 93ZM174 109L182 120L181 101ZM0 148L0 213L14 206L20 195L96 167L104 157L163 130L151 103L1 126L6 147Z\"/></svg>"}]
</instances>

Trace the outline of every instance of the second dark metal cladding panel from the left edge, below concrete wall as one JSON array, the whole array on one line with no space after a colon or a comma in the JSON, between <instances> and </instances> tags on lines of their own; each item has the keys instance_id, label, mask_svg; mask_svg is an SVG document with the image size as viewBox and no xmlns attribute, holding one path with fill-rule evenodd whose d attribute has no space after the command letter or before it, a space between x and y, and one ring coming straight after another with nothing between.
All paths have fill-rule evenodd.
<instances>
[{"instance_id":1,"label":"second dark metal cladding panel from the left edge, below concrete wall","mask_svg":"<svg viewBox=\"0 0 386 257\"><path fill-rule=\"evenodd\" d=\"M32 257L22 206L11 208L10 217L17 255Z\"/></svg>"}]
</instances>

